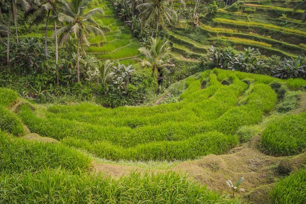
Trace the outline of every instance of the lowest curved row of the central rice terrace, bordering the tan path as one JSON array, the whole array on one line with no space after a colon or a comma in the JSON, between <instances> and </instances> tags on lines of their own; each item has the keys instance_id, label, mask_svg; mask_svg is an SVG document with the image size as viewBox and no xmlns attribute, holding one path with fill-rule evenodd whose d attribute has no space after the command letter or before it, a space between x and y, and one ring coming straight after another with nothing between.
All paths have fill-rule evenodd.
<instances>
[{"instance_id":1,"label":"lowest curved row of the central rice terrace, bordering the tan path","mask_svg":"<svg viewBox=\"0 0 306 204\"><path fill-rule=\"evenodd\" d=\"M96 157L119 161L176 161L196 159L209 154L220 155L238 143L236 137L208 132L181 141L162 141L122 148L108 142L90 143L86 140L66 138L67 146L84 149Z\"/></svg>"}]
</instances>

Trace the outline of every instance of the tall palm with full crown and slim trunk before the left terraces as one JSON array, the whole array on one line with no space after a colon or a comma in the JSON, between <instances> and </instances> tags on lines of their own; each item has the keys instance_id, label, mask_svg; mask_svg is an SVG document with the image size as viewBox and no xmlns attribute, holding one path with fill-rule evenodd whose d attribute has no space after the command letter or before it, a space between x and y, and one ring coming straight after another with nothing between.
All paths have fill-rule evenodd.
<instances>
[{"instance_id":1,"label":"tall palm with full crown and slim trunk before the left terraces","mask_svg":"<svg viewBox=\"0 0 306 204\"><path fill-rule=\"evenodd\" d=\"M65 0L62 7L63 11L58 14L58 18L61 22L65 22L66 25L53 34L53 36L61 35L60 44L66 42L71 34L77 38L78 82L80 82L80 45L81 48L83 42L87 46L90 45L87 40L89 33L104 36L103 32L99 29L99 25L92 19L94 15L104 14L104 12L100 8L95 8L85 13L88 3L89 0L72 0L69 2Z\"/></svg>"}]
</instances>

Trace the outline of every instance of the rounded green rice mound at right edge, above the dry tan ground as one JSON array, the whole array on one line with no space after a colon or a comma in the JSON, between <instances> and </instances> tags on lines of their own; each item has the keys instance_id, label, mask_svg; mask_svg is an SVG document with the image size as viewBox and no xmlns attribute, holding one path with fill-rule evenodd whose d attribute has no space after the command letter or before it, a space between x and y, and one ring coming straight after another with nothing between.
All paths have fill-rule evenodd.
<instances>
[{"instance_id":1,"label":"rounded green rice mound at right edge, above the dry tan ground","mask_svg":"<svg viewBox=\"0 0 306 204\"><path fill-rule=\"evenodd\" d=\"M262 134L262 150L273 156L298 155L306 149L306 112L284 116Z\"/></svg>"}]
</instances>

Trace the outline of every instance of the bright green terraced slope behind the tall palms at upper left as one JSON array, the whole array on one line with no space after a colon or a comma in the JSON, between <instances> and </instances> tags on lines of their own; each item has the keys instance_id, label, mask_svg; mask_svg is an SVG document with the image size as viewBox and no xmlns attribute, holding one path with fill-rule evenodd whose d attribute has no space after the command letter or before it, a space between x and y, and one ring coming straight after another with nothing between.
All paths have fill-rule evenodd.
<instances>
[{"instance_id":1,"label":"bright green terraced slope behind the tall palms at upper left","mask_svg":"<svg viewBox=\"0 0 306 204\"><path fill-rule=\"evenodd\" d=\"M133 64L139 61L140 53L138 48L141 46L139 41L133 37L130 29L118 18L113 6L108 1L93 1L90 3L88 11L93 8L101 8L104 16L95 17L94 20L104 31L105 36L95 36L90 34L88 41L89 47L84 47L87 54L95 56L97 59L119 60L121 63L129 62ZM33 32L22 37L44 37L45 27L39 25ZM49 25L48 37L52 38L53 25ZM37 33L37 31L41 31Z\"/></svg>"}]
</instances>

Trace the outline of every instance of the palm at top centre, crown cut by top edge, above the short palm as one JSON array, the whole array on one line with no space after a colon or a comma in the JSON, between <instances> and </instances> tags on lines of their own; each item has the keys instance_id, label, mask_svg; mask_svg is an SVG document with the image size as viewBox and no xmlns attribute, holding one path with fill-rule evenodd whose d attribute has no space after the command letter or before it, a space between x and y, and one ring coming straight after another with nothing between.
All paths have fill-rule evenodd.
<instances>
[{"instance_id":1,"label":"palm at top centre, crown cut by top edge, above the short palm","mask_svg":"<svg viewBox=\"0 0 306 204\"><path fill-rule=\"evenodd\" d=\"M144 19L146 19L144 24L148 24L151 21L155 22L156 37L160 20L162 20L162 24L164 24L164 20L171 24L173 17L176 17L176 12L172 10L172 8L169 8L170 2L171 0L148 0L148 3L137 6L137 8L143 9L139 17L144 17Z\"/></svg>"}]
</instances>

